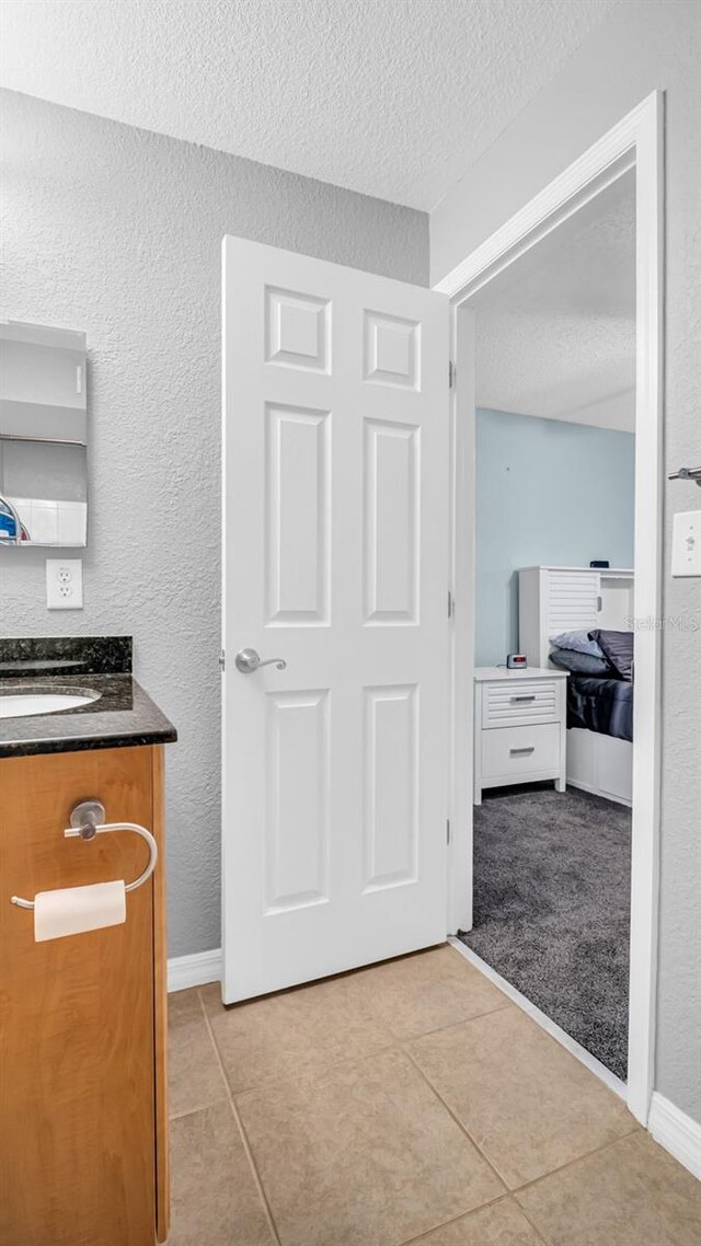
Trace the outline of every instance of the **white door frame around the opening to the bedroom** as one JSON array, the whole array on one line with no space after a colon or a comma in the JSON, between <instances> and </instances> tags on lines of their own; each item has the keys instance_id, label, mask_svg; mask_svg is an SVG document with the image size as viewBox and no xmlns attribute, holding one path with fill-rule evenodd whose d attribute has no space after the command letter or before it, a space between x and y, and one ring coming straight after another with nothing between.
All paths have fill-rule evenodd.
<instances>
[{"instance_id":1,"label":"white door frame around the opening to the bedroom","mask_svg":"<svg viewBox=\"0 0 701 1246\"><path fill-rule=\"evenodd\" d=\"M630 168L636 173L635 716L627 1106L647 1124L654 1087L660 837L664 95L647 96L434 285L453 302L452 792L448 932L471 927L474 665L474 312L467 302Z\"/></svg>"}]
</instances>

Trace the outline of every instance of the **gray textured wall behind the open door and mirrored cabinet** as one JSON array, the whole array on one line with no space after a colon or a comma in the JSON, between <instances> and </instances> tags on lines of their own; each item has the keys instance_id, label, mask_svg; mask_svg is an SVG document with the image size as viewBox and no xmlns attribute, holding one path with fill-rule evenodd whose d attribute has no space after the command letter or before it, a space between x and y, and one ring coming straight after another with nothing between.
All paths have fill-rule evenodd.
<instances>
[{"instance_id":1,"label":"gray textured wall behind the open door and mirrored cabinet","mask_svg":"<svg viewBox=\"0 0 701 1246\"><path fill-rule=\"evenodd\" d=\"M168 952L220 944L220 255L225 233L427 284L428 221L1 92L2 313L87 333L85 609L0 551L0 633L132 633L170 715Z\"/></svg>"}]
</instances>

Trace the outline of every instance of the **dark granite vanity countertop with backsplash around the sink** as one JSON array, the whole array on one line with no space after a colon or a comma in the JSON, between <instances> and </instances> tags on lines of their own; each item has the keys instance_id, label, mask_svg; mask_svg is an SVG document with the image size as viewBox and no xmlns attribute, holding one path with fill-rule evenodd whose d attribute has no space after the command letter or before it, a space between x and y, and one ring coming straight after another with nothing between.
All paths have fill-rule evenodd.
<instances>
[{"instance_id":1,"label":"dark granite vanity countertop with backsplash around the sink","mask_svg":"<svg viewBox=\"0 0 701 1246\"><path fill-rule=\"evenodd\" d=\"M107 643L110 638L99 640ZM0 758L167 744L177 739L172 724L131 675L131 642L128 654L111 663L104 660L104 649L94 660L82 645L79 649L79 642L70 657L56 654L54 662L41 649L46 649L47 642L35 642L37 648L21 655L9 652L14 643L0 640L0 699L17 693L81 690L100 693L100 698L52 714L0 718ZM27 644L30 642L22 642L24 648ZM109 672L110 667L112 673L106 673L105 668ZM122 669L115 670L115 667ZM44 673L40 675L37 670Z\"/></svg>"}]
</instances>

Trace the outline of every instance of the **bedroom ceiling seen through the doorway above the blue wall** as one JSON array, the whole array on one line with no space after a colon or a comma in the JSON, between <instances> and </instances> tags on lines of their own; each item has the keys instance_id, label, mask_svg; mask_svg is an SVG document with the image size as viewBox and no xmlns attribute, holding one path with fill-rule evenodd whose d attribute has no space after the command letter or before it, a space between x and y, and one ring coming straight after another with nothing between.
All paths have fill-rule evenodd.
<instances>
[{"instance_id":1,"label":"bedroom ceiling seen through the doorway above the blue wall","mask_svg":"<svg viewBox=\"0 0 701 1246\"><path fill-rule=\"evenodd\" d=\"M473 307L479 406L632 432L634 174L510 265Z\"/></svg>"}]
</instances>

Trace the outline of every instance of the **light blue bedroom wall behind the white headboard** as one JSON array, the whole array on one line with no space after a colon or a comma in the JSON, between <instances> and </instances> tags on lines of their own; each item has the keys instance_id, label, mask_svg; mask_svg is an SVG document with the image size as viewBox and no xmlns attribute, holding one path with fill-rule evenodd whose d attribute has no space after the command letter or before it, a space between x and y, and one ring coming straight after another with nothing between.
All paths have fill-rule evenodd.
<instances>
[{"instance_id":1,"label":"light blue bedroom wall behind the white headboard","mask_svg":"<svg viewBox=\"0 0 701 1246\"><path fill-rule=\"evenodd\" d=\"M635 437L476 412L476 664L519 643L520 567L632 567Z\"/></svg>"}]
</instances>

